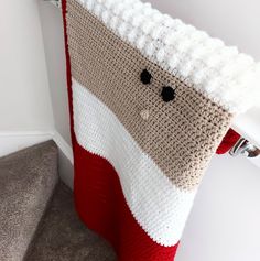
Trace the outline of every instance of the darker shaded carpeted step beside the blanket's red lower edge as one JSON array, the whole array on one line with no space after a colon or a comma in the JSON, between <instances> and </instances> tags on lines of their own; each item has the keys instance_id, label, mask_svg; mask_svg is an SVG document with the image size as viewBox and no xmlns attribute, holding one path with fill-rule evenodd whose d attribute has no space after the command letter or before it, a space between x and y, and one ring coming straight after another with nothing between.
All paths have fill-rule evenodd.
<instances>
[{"instance_id":1,"label":"darker shaded carpeted step beside the blanket's red lower edge","mask_svg":"<svg viewBox=\"0 0 260 261\"><path fill-rule=\"evenodd\" d=\"M88 230L74 210L73 195L58 184L25 261L115 261L108 243Z\"/></svg>"}]
</instances>

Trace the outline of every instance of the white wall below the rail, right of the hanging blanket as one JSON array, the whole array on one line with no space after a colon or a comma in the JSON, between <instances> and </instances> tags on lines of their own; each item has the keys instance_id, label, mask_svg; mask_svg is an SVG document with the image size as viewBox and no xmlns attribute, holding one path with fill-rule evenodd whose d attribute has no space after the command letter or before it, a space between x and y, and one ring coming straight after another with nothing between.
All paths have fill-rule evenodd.
<instances>
[{"instance_id":1,"label":"white wall below the rail, right of the hanging blanket","mask_svg":"<svg viewBox=\"0 0 260 261\"><path fill-rule=\"evenodd\" d=\"M260 170L215 156L186 224L176 261L260 260Z\"/></svg>"}]
</instances>

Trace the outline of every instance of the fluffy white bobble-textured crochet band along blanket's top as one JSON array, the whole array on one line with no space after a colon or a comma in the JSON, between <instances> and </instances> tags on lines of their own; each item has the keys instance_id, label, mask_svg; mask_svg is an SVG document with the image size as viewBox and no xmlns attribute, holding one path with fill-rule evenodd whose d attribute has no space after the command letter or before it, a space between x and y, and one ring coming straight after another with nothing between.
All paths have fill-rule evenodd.
<instances>
[{"instance_id":1,"label":"fluffy white bobble-textured crochet band along blanket's top","mask_svg":"<svg viewBox=\"0 0 260 261\"><path fill-rule=\"evenodd\" d=\"M77 0L123 41L231 113L260 104L260 63L140 0Z\"/></svg>"}]
</instances>

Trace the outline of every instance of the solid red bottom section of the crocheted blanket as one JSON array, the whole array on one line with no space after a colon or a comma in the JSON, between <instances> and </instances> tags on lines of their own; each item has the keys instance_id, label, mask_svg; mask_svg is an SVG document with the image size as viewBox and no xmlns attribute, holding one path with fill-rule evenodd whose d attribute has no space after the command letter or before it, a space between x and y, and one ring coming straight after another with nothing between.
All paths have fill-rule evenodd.
<instances>
[{"instance_id":1,"label":"solid red bottom section of the crocheted blanket","mask_svg":"<svg viewBox=\"0 0 260 261\"><path fill-rule=\"evenodd\" d=\"M173 261L177 244L162 247L139 226L110 163L75 143L74 195L88 228L107 239L119 261Z\"/></svg>"}]
</instances>

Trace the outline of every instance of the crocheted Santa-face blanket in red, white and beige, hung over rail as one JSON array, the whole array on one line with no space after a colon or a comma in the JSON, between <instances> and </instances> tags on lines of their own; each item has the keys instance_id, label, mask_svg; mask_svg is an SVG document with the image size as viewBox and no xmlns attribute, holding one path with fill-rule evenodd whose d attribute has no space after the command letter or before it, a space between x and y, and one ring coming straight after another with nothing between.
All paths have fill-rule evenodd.
<instances>
[{"instance_id":1,"label":"crocheted Santa-face blanket in red, white and beige, hung over rail","mask_svg":"<svg viewBox=\"0 0 260 261\"><path fill-rule=\"evenodd\" d=\"M260 65L139 0L64 0L63 13L77 211L118 260L172 261Z\"/></svg>"}]
</instances>

